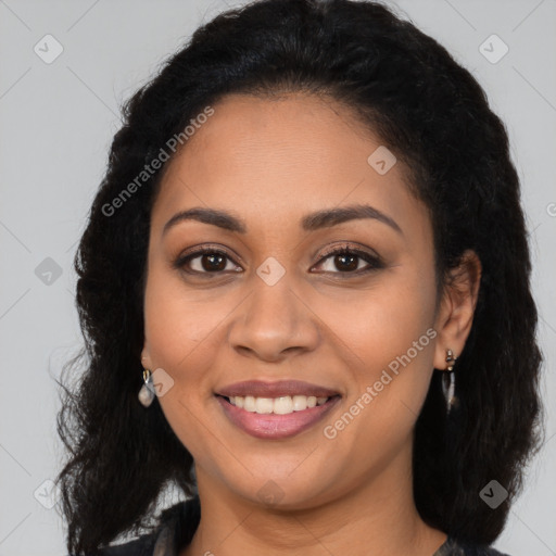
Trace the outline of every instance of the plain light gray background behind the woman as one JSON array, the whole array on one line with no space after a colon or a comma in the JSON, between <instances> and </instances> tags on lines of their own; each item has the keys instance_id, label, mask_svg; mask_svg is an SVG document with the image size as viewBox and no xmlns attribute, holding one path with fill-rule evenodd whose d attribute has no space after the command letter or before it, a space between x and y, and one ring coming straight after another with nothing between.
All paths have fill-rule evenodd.
<instances>
[{"instance_id":1,"label":"plain light gray background behind the woman","mask_svg":"<svg viewBox=\"0 0 556 556\"><path fill-rule=\"evenodd\" d=\"M55 501L41 485L63 456L53 377L81 341L76 242L119 127L118 105L199 24L244 3L226 1L0 0L0 556L66 554L61 517L35 493ZM396 5L478 77L507 124L534 263L547 424L495 546L513 556L556 555L556 1ZM34 51L47 34L64 49L51 64ZM495 64L479 50L492 34L509 47ZM35 274L47 257L62 270L50 285Z\"/></svg>"}]
</instances>

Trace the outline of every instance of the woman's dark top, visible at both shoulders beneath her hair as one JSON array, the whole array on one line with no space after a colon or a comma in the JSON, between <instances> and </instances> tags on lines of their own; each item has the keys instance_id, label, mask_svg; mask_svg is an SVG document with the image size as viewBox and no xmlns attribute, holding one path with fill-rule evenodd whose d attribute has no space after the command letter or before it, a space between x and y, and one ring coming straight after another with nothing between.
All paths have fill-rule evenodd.
<instances>
[{"instance_id":1,"label":"woman's dark top, visible at both shoulders beneath her hair","mask_svg":"<svg viewBox=\"0 0 556 556\"><path fill-rule=\"evenodd\" d=\"M164 509L153 533L143 534L124 544L108 546L102 556L177 556L191 543L199 526L199 496ZM431 556L508 556L489 546L457 543L451 536Z\"/></svg>"}]
</instances>

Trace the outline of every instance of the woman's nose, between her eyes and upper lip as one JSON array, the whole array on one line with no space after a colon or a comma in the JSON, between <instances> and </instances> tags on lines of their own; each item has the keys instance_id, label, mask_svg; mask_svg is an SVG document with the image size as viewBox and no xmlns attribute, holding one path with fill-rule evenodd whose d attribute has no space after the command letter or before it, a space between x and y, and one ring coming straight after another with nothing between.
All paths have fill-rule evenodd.
<instances>
[{"instance_id":1,"label":"woman's nose, between her eyes and upper lip","mask_svg":"<svg viewBox=\"0 0 556 556\"><path fill-rule=\"evenodd\" d=\"M287 278L274 286L253 277L250 294L235 312L228 341L244 356L279 362L318 345L318 317Z\"/></svg>"}]
</instances>

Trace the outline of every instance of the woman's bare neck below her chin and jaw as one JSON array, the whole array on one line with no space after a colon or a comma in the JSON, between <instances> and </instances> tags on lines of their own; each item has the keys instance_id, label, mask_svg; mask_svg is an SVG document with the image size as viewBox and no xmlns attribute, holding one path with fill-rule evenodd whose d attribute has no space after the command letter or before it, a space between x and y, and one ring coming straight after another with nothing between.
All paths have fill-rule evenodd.
<instances>
[{"instance_id":1,"label":"woman's bare neck below her chin and jaw","mask_svg":"<svg viewBox=\"0 0 556 556\"><path fill-rule=\"evenodd\" d=\"M432 556L446 534L417 513L410 457L400 456L363 484L362 478L354 479L342 495L293 511L262 507L198 469L201 521L179 556L281 556L285 551L292 556Z\"/></svg>"}]
</instances>

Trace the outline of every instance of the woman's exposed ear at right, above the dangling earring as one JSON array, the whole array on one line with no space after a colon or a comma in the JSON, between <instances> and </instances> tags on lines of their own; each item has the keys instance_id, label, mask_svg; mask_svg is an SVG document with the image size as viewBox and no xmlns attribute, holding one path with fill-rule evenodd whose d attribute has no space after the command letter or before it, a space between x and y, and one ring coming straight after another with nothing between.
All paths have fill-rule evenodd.
<instances>
[{"instance_id":1,"label":"woman's exposed ear at right, above the dangling earring","mask_svg":"<svg viewBox=\"0 0 556 556\"><path fill-rule=\"evenodd\" d=\"M464 351L473 321L481 271L481 262L471 250L467 250L459 265L450 271L434 324L438 332L434 352L437 369L447 367L446 350L452 350L454 357Z\"/></svg>"}]
</instances>

